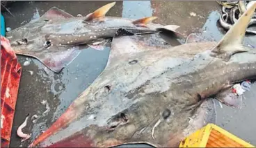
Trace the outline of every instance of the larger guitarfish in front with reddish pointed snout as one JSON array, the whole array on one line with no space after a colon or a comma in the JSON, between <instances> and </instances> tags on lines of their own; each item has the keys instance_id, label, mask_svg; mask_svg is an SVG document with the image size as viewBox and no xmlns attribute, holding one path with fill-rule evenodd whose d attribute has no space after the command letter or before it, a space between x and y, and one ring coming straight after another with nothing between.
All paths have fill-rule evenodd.
<instances>
[{"instance_id":1,"label":"larger guitarfish in front with reddish pointed snout","mask_svg":"<svg viewBox=\"0 0 256 148\"><path fill-rule=\"evenodd\" d=\"M256 49L242 46L255 8L256 2L218 43L159 48L118 30L101 75L30 146L144 142L177 147L185 136L214 122L214 105L207 98L256 76ZM218 100L236 105L223 97Z\"/></svg>"}]
</instances>

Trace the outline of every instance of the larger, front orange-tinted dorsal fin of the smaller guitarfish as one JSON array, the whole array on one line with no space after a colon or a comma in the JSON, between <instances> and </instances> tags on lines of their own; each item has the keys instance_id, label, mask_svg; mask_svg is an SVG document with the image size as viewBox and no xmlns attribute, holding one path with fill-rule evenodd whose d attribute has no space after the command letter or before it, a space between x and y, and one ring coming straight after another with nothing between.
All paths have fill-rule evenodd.
<instances>
[{"instance_id":1,"label":"larger, front orange-tinted dorsal fin of the smaller guitarfish","mask_svg":"<svg viewBox=\"0 0 256 148\"><path fill-rule=\"evenodd\" d=\"M91 21L91 20L93 20L95 18L105 17L106 13L109 12L109 10L113 6L115 6L115 2L108 3L105 6L102 6L101 8L95 10L95 12L88 14L84 21Z\"/></svg>"}]
</instances>

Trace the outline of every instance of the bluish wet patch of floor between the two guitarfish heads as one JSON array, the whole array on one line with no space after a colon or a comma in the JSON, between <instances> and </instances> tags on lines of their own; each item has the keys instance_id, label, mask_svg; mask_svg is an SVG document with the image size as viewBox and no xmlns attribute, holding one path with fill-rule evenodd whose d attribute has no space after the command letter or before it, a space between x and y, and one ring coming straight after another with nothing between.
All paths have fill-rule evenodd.
<instances>
[{"instance_id":1,"label":"bluish wet patch of floor between the two guitarfish heads","mask_svg":"<svg viewBox=\"0 0 256 148\"><path fill-rule=\"evenodd\" d=\"M109 47L104 48L103 51L92 48L83 50L68 68L63 69L61 82L65 84L65 90L59 95L61 104L58 104L51 122L54 122L63 110L102 73L109 59L109 50Z\"/></svg>"}]
</instances>

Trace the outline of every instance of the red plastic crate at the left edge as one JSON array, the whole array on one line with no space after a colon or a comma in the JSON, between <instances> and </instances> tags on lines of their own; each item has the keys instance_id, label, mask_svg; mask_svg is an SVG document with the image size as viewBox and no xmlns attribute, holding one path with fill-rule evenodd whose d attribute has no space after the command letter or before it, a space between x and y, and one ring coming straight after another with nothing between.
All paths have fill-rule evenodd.
<instances>
[{"instance_id":1,"label":"red plastic crate at the left edge","mask_svg":"<svg viewBox=\"0 0 256 148\"><path fill-rule=\"evenodd\" d=\"M1 36L1 147L9 147L22 67L6 37Z\"/></svg>"}]
</instances>

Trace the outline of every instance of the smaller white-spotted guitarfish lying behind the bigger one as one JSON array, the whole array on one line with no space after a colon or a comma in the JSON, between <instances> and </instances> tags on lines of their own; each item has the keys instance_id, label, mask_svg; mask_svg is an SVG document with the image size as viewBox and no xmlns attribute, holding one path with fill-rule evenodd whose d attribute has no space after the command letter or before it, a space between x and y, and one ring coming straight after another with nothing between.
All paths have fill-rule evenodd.
<instances>
[{"instance_id":1,"label":"smaller white-spotted guitarfish lying behind the bigger one","mask_svg":"<svg viewBox=\"0 0 256 148\"><path fill-rule=\"evenodd\" d=\"M107 37L113 37L118 28L132 33L156 33L161 30L173 31L178 26L152 24L157 17L133 20L120 17L105 17L115 2L102 6L86 17L72 15L51 8L40 19L16 28L7 34L15 53L37 58L51 71L60 72L80 53L84 44L102 43ZM180 37L180 36L179 36ZM80 45L80 46L79 46Z\"/></svg>"}]
</instances>

